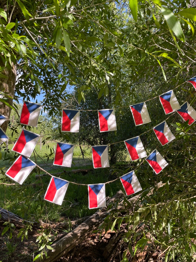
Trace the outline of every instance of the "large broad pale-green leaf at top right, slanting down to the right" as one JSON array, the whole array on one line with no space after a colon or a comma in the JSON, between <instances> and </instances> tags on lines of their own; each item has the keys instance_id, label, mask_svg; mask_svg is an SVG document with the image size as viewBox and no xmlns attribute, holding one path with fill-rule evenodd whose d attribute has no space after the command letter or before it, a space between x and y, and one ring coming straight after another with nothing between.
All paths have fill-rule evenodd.
<instances>
[{"instance_id":1,"label":"large broad pale-green leaf at top right, slanting down to the right","mask_svg":"<svg viewBox=\"0 0 196 262\"><path fill-rule=\"evenodd\" d=\"M168 28L174 32L174 34L183 42L185 42L185 35L182 31L180 21L175 17L174 13L166 8L161 7L161 12L165 18Z\"/></svg>"}]
</instances>

